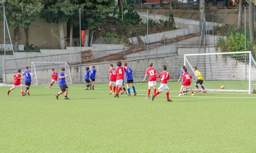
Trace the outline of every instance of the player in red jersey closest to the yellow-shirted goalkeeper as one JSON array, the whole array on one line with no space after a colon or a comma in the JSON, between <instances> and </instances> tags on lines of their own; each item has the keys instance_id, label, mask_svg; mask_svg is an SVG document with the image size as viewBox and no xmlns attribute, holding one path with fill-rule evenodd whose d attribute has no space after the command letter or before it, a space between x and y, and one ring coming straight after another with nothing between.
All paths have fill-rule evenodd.
<instances>
[{"instance_id":1,"label":"player in red jersey closest to the yellow-shirted goalkeeper","mask_svg":"<svg viewBox=\"0 0 256 153\"><path fill-rule=\"evenodd\" d=\"M180 95L182 94L182 90L183 88L185 88L185 93L187 92L187 88L189 88L191 90L191 96L194 96L193 93L193 89L191 87L191 80L192 80L192 76L187 72L187 68L183 69L183 74L182 74L182 86L181 86L181 91L180 91Z\"/></svg>"}]
</instances>

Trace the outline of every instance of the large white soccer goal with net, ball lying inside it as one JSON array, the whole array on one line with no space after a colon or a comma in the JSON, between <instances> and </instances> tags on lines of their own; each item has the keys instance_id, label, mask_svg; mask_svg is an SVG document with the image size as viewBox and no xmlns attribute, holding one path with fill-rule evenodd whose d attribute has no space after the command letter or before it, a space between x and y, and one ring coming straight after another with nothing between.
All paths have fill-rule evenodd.
<instances>
[{"instance_id":1,"label":"large white soccer goal with net, ball lying inside it","mask_svg":"<svg viewBox=\"0 0 256 153\"><path fill-rule=\"evenodd\" d=\"M202 73L203 85L209 91L256 89L256 63L251 51L185 54L184 65L196 80L193 67Z\"/></svg>"}]
</instances>

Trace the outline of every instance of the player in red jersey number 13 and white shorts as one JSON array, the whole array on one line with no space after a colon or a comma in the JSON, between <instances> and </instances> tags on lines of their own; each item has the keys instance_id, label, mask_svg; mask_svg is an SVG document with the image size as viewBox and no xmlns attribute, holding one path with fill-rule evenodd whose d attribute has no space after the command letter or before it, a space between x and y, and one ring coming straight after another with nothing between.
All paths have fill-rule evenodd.
<instances>
[{"instance_id":1,"label":"player in red jersey number 13 and white shorts","mask_svg":"<svg viewBox=\"0 0 256 153\"><path fill-rule=\"evenodd\" d=\"M147 97L146 98L150 98L150 90L151 87L154 86L154 95L156 94L156 69L153 68L153 63L148 63L149 68L146 69L146 75L144 77L144 80L146 80L146 77L148 75L148 90L147 90Z\"/></svg>"}]
</instances>

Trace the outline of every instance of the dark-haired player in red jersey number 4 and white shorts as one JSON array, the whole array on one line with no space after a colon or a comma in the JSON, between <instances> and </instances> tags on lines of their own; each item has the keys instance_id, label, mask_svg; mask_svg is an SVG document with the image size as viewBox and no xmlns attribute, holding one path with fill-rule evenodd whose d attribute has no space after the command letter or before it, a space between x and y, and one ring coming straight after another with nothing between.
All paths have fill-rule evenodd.
<instances>
[{"instance_id":1,"label":"dark-haired player in red jersey number 4 and white shorts","mask_svg":"<svg viewBox=\"0 0 256 153\"><path fill-rule=\"evenodd\" d=\"M115 97L119 98L119 91L122 89L122 86L123 86L123 81L124 81L124 73L125 71L127 70L125 67L122 66L122 63L121 61L118 61L117 62L117 68L116 68L116 94L115 94ZM114 72L112 70L112 72ZM119 88L118 88L119 86Z\"/></svg>"}]
</instances>

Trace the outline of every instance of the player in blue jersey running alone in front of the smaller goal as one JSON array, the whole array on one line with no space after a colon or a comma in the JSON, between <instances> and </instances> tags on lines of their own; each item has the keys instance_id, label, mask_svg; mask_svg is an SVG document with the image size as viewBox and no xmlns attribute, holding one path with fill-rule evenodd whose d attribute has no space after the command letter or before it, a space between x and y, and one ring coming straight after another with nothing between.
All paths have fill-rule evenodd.
<instances>
[{"instance_id":1,"label":"player in blue jersey running alone in front of the smaller goal","mask_svg":"<svg viewBox=\"0 0 256 153\"><path fill-rule=\"evenodd\" d=\"M68 86L66 83L66 77L69 77L69 75L65 75L65 68L61 68L60 69L60 73L59 73L59 87L60 87L60 92L58 94L55 95L56 99L59 99L59 95L65 93L65 99L69 99L68 98Z\"/></svg>"}]
</instances>

